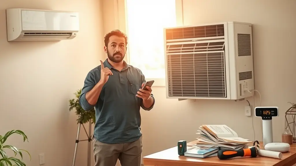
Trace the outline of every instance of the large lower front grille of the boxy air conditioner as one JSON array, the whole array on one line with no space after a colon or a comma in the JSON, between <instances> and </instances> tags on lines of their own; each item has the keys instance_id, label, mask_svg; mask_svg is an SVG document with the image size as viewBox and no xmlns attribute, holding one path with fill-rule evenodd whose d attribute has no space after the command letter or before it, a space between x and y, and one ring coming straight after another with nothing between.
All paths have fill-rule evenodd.
<instances>
[{"instance_id":1,"label":"large lower front grille of the boxy air conditioner","mask_svg":"<svg viewBox=\"0 0 296 166\"><path fill-rule=\"evenodd\" d=\"M168 54L167 58L170 97L226 97L224 51Z\"/></svg>"}]
</instances>

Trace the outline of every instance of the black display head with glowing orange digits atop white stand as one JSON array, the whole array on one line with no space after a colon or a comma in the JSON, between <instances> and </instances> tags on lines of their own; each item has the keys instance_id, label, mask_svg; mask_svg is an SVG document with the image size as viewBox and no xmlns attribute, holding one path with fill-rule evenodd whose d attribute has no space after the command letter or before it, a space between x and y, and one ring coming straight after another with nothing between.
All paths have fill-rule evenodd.
<instances>
[{"instance_id":1,"label":"black display head with glowing orange digits atop white stand","mask_svg":"<svg viewBox=\"0 0 296 166\"><path fill-rule=\"evenodd\" d=\"M272 117L279 116L278 107L256 107L255 116L262 117L262 120L270 120Z\"/></svg>"}]
</instances>

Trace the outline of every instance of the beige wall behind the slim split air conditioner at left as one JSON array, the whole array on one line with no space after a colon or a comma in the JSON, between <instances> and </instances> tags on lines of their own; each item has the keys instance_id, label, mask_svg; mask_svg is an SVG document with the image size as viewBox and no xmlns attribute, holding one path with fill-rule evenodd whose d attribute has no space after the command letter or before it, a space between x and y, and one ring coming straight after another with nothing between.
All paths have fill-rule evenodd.
<instances>
[{"instance_id":1,"label":"beige wall behind the slim split air conditioner at left","mask_svg":"<svg viewBox=\"0 0 296 166\"><path fill-rule=\"evenodd\" d=\"M80 32L73 40L60 42L8 43L7 8L77 11ZM77 116L69 112L70 98L83 86L89 70L103 56L102 1L15 0L0 5L0 135L20 129L29 143L12 136L7 144L26 149L29 166L37 166L45 153L44 166L72 165ZM87 125L86 125L87 127ZM86 138L83 129L81 139ZM12 153L10 153L12 154ZM85 166L87 142L80 142L76 166ZM93 154L92 165L93 165Z\"/></svg>"}]
</instances>

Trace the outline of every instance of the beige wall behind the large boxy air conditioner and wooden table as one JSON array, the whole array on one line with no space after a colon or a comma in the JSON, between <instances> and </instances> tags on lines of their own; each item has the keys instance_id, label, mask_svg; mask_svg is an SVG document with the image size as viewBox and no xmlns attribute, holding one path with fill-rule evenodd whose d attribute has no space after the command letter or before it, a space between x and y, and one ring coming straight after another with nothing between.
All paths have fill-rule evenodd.
<instances>
[{"instance_id":1,"label":"beige wall behind the large boxy air conditioner and wooden table","mask_svg":"<svg viewBox=\"0 0 296 166\"><path fill-rule=\"evenodd\" d=\"M124 4L123 0L118 1ZM279 106L280 114L273 120L273 131L274 141L281 141L284 112L290 106L287 102L296 102L296 1L183 0L183 13L184 25L223 21L254 24L255 89L262 95L262 106ZM121 19L124 19L123 15L119 17ZM178 140L196 139L196 130L202 124L226 124L239 136L254 138L252 118L244 116L246 101L177 101L166 99L165 87L153 87L153 94L154 108L141 110L143 156L176 146ZM253 103L252 98L248 100ZM258 106L258 94L255 102ZM253 120L256 139L260 141L261 121L255 117Z\"/></svg>"}]
</instances>

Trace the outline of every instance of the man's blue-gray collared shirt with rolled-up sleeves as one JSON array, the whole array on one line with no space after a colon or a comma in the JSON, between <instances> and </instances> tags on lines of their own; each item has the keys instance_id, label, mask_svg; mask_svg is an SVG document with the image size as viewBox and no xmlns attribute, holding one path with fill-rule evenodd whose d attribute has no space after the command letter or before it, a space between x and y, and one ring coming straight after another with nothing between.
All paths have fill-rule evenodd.
<instances>
[{"instance_id":1,"label":"man's blue-gray collared shirt with rolled-up sleeves","mask_svg":"<svg viewBox=\"0 0 296 166\"><path fill-rule=\"evenodd\" d=\"M146 82L145 77L140 69L126 62L124 64L125 67L118 71L107 59L104 61L104 66L108 67L113 75L109 76L95 105L87 102L85 94L99 82L101 65L89 71L79 97L83 110L95 109L94 137L107 144L127 143L139 139L142 135L140 107L151 110L155 103L153 102L150 108L145 108L143 99L136 97L142 83Z\"/></svg>"}]
</instances>

